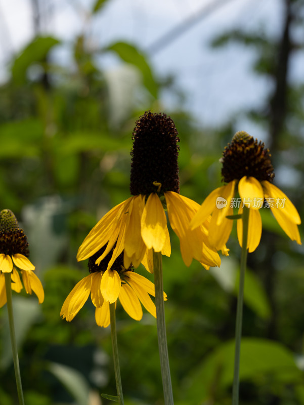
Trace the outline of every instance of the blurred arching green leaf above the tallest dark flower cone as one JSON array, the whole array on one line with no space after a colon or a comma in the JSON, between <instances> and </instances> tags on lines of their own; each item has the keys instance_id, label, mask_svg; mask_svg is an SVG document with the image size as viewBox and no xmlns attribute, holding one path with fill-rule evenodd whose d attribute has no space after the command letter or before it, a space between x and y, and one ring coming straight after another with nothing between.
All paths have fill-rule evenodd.
<instances>
[{"instance_id":1,"label":"blurred arching green leaf above the tallest dark flower cone","mask_svg":"<svg viewBox=\"0 0 304 405\"><path fill-rule=\"evenodd\" d=\"M156 84L146 57L135 46L125 42L117 42L107 48L114 51L124 62L136 66L143 75L143 84L154 98L157 98L158 85Z\"/></svg>"}]
</instances>

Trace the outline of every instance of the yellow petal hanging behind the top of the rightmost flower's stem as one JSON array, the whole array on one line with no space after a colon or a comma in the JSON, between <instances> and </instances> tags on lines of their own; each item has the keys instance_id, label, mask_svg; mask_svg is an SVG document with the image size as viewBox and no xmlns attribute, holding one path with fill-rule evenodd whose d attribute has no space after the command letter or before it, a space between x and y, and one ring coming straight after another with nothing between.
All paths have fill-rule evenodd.
<instances>
[{"instance_id":1,"label":"yellow petal hanging behind the top of the rightmost flower's stem","mask_svg":"<svg viewBox=\"0 0 304 405\"><path fill-rule=\"evenodd\" d=\"M242 207L239 208L238 214L242 214ZM240 247L243 245L243 221L237 220L237 234ZM248 237L247 237L247 249L248 252L254 252L259 245L260 237L262 236L262 218L258 210L249 209L248 218Z\"/></svg>"}]
</instances>

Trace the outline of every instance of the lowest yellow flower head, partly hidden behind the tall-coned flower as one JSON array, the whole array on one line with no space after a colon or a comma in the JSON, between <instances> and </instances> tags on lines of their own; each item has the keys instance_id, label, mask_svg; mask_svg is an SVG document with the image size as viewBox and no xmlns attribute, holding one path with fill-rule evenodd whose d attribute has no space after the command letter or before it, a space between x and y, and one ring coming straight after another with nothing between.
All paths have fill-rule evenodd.
<instances>
[{"instance_id":1,"label":"lowest yellow flower head, partly hidden behind the tall-coned flower","mask_svg":"<svg viewBox=\"0 0 304 405\"><path fill-rule=\"evenodd\" d=\"M150 295L155 297L154 284L135 273L132 267L127 269L123 266L123 253L121 253L111 268L108 263L113 251L97 265L96 259L104 252L105 248L97 252L89 259L90 274L80 280L70 294L67 296L61 308L60 316L71 321L88 300L91 293L91 300L95 308L95 320L98 326L106 328L110 325L109 304L119 301L125 312L135 320L141 320L143 310L141 303L156 317L155 304ZM164 293L164 299L166 294Z\"/></svg>"}]
</instances>

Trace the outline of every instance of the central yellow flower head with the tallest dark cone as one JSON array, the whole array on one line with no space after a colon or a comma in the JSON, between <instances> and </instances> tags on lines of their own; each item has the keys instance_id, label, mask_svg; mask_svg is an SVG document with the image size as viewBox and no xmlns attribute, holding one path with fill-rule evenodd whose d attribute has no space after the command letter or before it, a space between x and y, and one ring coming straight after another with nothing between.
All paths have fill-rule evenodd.
<instances>
[{"instance_id":1,"label":"central yellow flower head with the tallest dark cone","mask_svg":"<svg viewBox=\"0 0 304 405\"><path fill-rule=\"evenodd\" d=\"M91 230L78 250L78 261L91 257L107 244L96 260L96 264L100 263L117 241L108 268L123 251L125 268L131 263L137 268L142 262L153 272L152 249L166 256L171 253L166 209L170 225L180 239L185 264L190 266L196 259L206 269L220 266L221 259L208 241L210 218L206 217L195 230L189 227L200 206L179 193L177 135L166 114L149 111L140 117L131 152L133 196L110 210ZM221 249L228 254L224 245Z\"/></svg>"}]
</instances>

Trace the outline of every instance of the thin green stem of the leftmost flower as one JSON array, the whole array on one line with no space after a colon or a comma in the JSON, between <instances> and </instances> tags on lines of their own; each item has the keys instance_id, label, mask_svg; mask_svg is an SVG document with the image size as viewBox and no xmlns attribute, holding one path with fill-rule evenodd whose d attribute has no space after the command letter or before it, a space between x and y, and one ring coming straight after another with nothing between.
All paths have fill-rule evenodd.
<instances>
[{"instance_id":1,"label":"thin green stem of the leftmost flower","mask_svg":"<svg viewBox=\"0 0 304 405\"><path fill-rule=\"evenodd\" d=\"M17 392L19 398L19 405L24 405L20 368L19 368L19 359L18 359L18 350L16 343L15 327L14 327L14 316L13 316L13 299L12 299L12 286L11 286L11 273L4 273L5 276L5 288L7 293L7 305L8 305L8 314L9 314L9 325L10 325L10 335L13 351L13 361L15 369L15 378L17 384Z\"/></svg>"}]
</instances>

